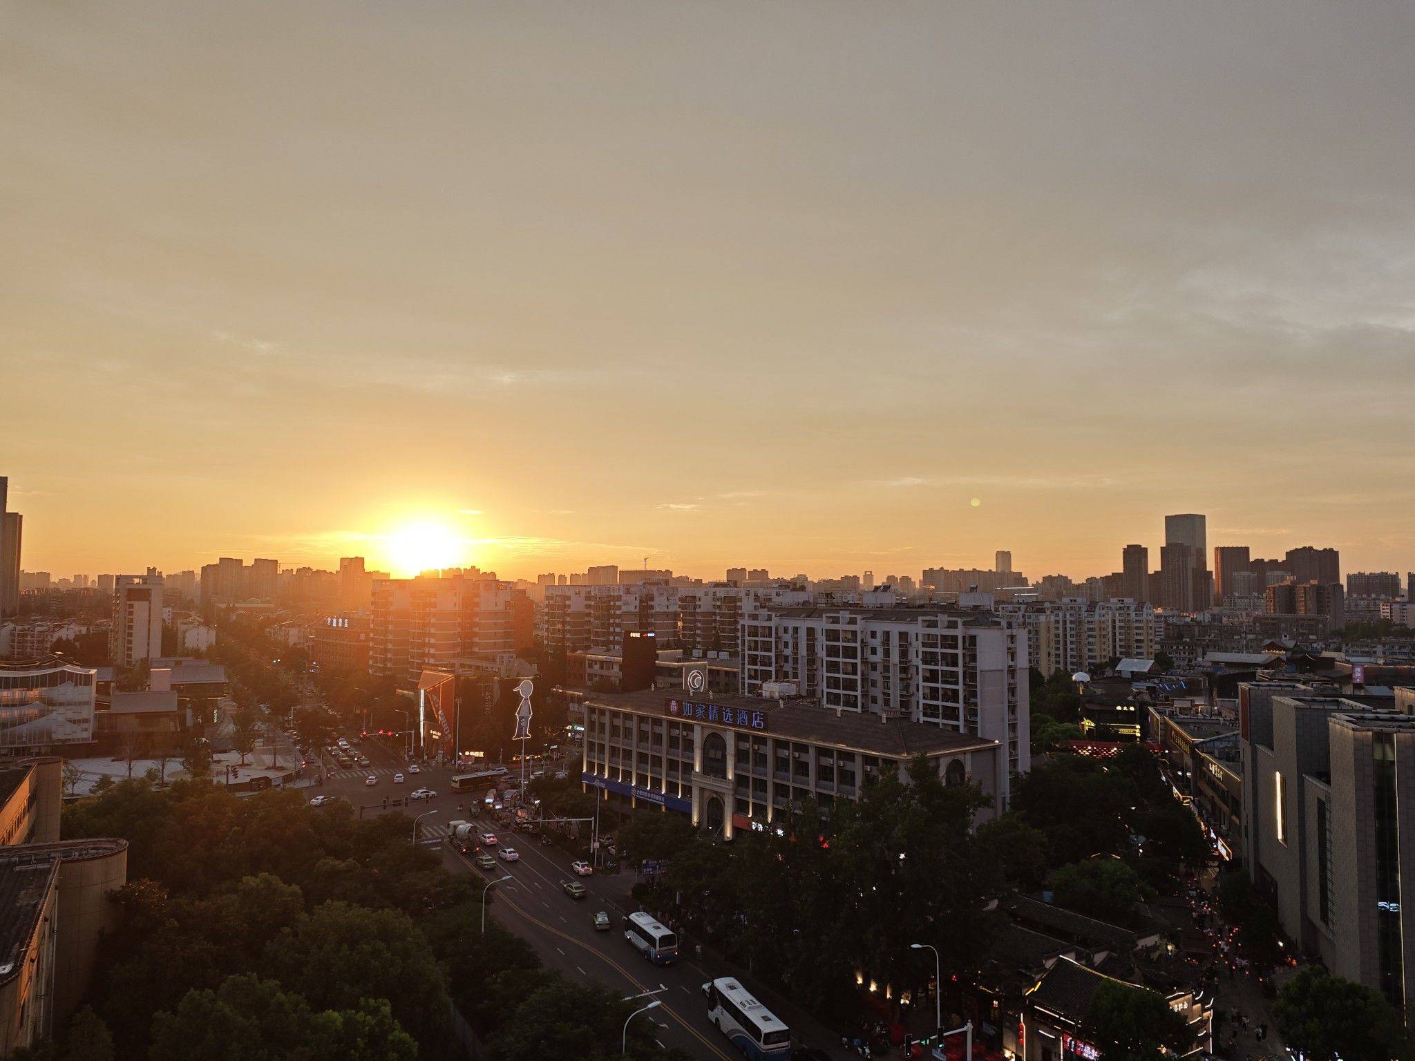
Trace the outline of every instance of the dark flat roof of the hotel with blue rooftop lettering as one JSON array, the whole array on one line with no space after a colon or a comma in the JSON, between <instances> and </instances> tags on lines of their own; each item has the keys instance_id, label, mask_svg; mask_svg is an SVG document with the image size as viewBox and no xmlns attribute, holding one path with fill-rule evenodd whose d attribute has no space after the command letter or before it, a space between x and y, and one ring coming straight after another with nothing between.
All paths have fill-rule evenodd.
<instances>
[{"instance_id":1,"label":"dark flat roof of the hotel with blue rooftop lettering","mask_svg":"<svg viewBox=\"0 0 1415 1061\"><path fill-rule=\"evenodd\" d=\"M763 736L785 737L809 744L829 744L850 751L893 758L913 758L918 754L937 755L996 747L983 737L969 737L938 726L927 726L906 719L882 719L877 714L857 714L822 707L815 700L768 700L734 693L700 695L689 699L682 689L644 689L633 693L589 693L589 706L614 707L641 714L681 717L669 710L669 702L716 705L744 712L761 712L766 727L754 730Z\"/></svg>"}]
</instances>

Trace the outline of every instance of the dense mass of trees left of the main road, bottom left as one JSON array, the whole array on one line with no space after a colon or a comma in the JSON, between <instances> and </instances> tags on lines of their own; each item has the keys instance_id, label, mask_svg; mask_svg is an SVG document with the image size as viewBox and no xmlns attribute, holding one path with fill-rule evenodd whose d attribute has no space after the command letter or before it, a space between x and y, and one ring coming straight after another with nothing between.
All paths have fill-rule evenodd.
<instances>
[{"instance_id":1,"label":"dense mass of trees left of the main road, bottom left","mask_svg":"<svg viewBox=\"0 0 1415 1061\"><path fill-rule=\"evenodd\" d=\"M68 806L64 835L129 840L122 927L91 1007L14 1057L440 1060L461 1055L453 1006L498 1061L620 1055L631 1007L495 924L483 935L481 890L410 845L402 815L139 779ZM628 1055L665 1057L642 1023Z\"/></svg>"}]
</instances>

